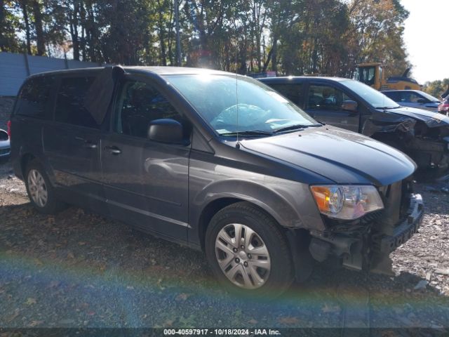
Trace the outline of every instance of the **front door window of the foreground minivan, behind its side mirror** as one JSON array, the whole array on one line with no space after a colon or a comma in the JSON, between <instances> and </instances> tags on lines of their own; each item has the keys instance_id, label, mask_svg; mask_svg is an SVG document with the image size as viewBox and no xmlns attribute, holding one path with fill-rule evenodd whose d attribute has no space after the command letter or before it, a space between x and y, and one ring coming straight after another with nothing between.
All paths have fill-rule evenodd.
<instances>
[{"instance_id":1,"label":"front door window of the foreground minivan, behind its side mirror","mask_svg":"<svg viewBox=\"0 0 449 337\"><path fill-rule=\"evenodd\" d=\"M147 138L149 122L170 118L182 123L182 117L168 100L152 86L142 82L123 85L116 113L116 131L125 135Z\"/></svg>"}]
</instances>

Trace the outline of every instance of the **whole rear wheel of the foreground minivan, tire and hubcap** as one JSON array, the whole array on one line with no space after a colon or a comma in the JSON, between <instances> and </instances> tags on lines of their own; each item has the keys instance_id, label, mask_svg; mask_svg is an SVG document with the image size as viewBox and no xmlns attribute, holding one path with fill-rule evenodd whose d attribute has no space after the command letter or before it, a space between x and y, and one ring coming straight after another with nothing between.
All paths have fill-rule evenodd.
<instances>
[{"instance_id":1,"label":"whole rear wheel of the foreground minivan, tire and hubcap","mask_svg":"<svg viewBox=\"0 0 449 337\"><path fill-rule=\"evenodd\" d=\"M65 204L58 200L48 174L37 159L30 161L25 169L25 186L29 200L39 213L54 214L65 208Z\"/></svg>"}]
</instances>

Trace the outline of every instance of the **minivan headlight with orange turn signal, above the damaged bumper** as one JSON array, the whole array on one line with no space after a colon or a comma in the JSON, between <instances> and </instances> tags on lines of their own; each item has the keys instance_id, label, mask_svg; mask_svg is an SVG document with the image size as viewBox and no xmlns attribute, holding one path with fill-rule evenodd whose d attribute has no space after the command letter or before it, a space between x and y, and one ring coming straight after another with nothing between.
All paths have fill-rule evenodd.
<instances>
[{"instance_id":1,"label":"minivan headlight with orange turn signal, above the damaged bumper","mask_svg":"<svg viewBox=\"0 0 449 337\"><path fill-rule=\"evenodd\" d=\"M310 188L320 212L330 218L354 220L384 208L374 186L322 185Z\"/></svg>"}]
</instances>

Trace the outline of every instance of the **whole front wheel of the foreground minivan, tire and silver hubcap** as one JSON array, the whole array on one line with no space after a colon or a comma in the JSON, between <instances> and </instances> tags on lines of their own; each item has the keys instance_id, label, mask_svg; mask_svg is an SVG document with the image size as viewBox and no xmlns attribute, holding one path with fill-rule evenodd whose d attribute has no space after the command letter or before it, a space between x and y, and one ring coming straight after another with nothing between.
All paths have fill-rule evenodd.
<instances>
[{"instance_id":1,"label":"whole front wheel of the foreground minivan, tire and silver hubcap","mask_svg":"<svg viewBox=\"0 0 449 337\"><path fill-rule=\"evenodd\" d=\"M205 247L215 276L233 292L279 296L293 282L292 258L279 225L246 202L213 216Z\"/></svg>"}]
</instances>

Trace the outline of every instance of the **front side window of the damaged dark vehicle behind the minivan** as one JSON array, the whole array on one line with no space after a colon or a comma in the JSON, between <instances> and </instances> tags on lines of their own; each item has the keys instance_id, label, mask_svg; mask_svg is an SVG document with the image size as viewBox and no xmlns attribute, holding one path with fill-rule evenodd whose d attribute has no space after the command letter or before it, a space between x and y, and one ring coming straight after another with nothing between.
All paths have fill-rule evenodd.
<instances>
[{"instance_id":1,"label":"front side window of the damaged dark vehicle behind the minivan","mask_svg":"<svg viewBox=\"0 0 449 337\"><path fill-rule=\"evenodd\" d=\"M311 85L307 109L311 110L342 110L344 101L353 100L340 89L333 86Z\"/></svg>"}]
</instances>

